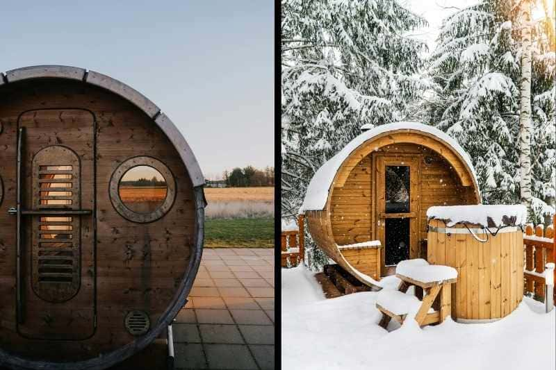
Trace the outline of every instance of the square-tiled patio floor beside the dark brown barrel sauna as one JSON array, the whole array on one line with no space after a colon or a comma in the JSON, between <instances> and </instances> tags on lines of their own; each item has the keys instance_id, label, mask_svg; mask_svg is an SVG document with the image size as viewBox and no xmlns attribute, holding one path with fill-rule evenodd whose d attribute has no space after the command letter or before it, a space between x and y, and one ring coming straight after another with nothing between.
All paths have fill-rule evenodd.
<instances>
[{"instance_id":1,"label":"square-tiled patio floor beside the dark brown barrel sauna","mask_svg":"<svg viewBox=\"0 0 556 370\"><path fill-rule=\"evenodd\" d=\"M172 328L177 369L274 369L274 250L204 249Z\"/></svg>"}]
</instances>

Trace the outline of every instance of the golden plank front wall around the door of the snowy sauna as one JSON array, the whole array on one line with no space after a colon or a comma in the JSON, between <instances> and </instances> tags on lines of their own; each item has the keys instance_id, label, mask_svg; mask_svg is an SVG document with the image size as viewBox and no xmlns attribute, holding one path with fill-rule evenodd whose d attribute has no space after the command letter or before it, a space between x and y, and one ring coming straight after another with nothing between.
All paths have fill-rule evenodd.
<instances>
[{"instance_id":1,"label":"golden plank front wall around the door of the snowy sauna","mask_svg":"<svg viewBox=\"0 0 556 370\"><path fill-rule=\"evenodd\" d=\"M373 145L370 143L369 145ZM373 156L411 155L420 162L419 234L418 239L427 237L427 209L433 205L477 204L473 187L463 187L450 164L438 153L425 146L410 143L391 144L378 148L366 155L348 174L341 187L332 188L331 215L332 233L338 245L367 242L376 239L373 227L373 192L376 178L384 176L373 171ZM430 164L425 157L432 157ZM411 196L414 196L413 194Z\"/></svg>"}]
</instances>

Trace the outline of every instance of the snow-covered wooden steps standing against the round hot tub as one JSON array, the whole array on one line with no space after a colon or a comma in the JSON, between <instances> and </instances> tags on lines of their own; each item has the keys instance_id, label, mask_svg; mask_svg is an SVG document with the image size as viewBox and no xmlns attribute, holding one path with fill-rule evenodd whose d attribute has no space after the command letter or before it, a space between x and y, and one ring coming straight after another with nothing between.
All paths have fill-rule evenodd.
<instances>
[{"instance_id":1,"label":"snow-covered wooden steps standing against the round hot tub","mask_svg":"<svg viewBox=\"0 0 556 370\"><path fill-rule=\"evenodd\" d=\"M391 319L403 323L409 314L415 315L419 326L441 323L450 316L451 284L457 281L456 269L418 258L400 262L396 276L402 280L398 290L382 289L377 297L376 306L382 312L380 326L386 328ZM406 294L411 285L415 286L416 296Z\"/></svg>"}]
</instances>

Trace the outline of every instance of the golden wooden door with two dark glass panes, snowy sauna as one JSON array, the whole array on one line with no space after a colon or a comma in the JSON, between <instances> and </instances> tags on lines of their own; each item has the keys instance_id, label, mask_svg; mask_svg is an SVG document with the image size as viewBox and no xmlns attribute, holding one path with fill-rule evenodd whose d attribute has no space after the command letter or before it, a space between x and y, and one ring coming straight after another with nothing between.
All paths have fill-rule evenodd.
<instances>
[{"instance_id":1,"label":"golden wooden door with two dark glass panes, snowy sauna","mask_svg":"<svg viewBox=\"0 0 556 370\"><path fill-rule=\"evenodd\" d=\"M375 226L381 249L381 276L418 257L419 160L415 155L375 155Z\"/></svg>"}]
</instances>

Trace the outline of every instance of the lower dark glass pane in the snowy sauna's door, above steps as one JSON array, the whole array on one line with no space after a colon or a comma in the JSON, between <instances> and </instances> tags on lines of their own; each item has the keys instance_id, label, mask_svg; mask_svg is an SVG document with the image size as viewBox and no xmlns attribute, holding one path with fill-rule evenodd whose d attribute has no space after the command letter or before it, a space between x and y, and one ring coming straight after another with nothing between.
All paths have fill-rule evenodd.
<instances>
[{"instance_id":1,"label":"lower dark glass pane in the snowy sauna's door, above steps","mask_svg":"<svg viewBox=\"0 0 556 370\"><path fill-rule=\"evenodd\" d=\"M409 219L386 219L384 264L409 260Z\"/></svg>"}]
</instances>

